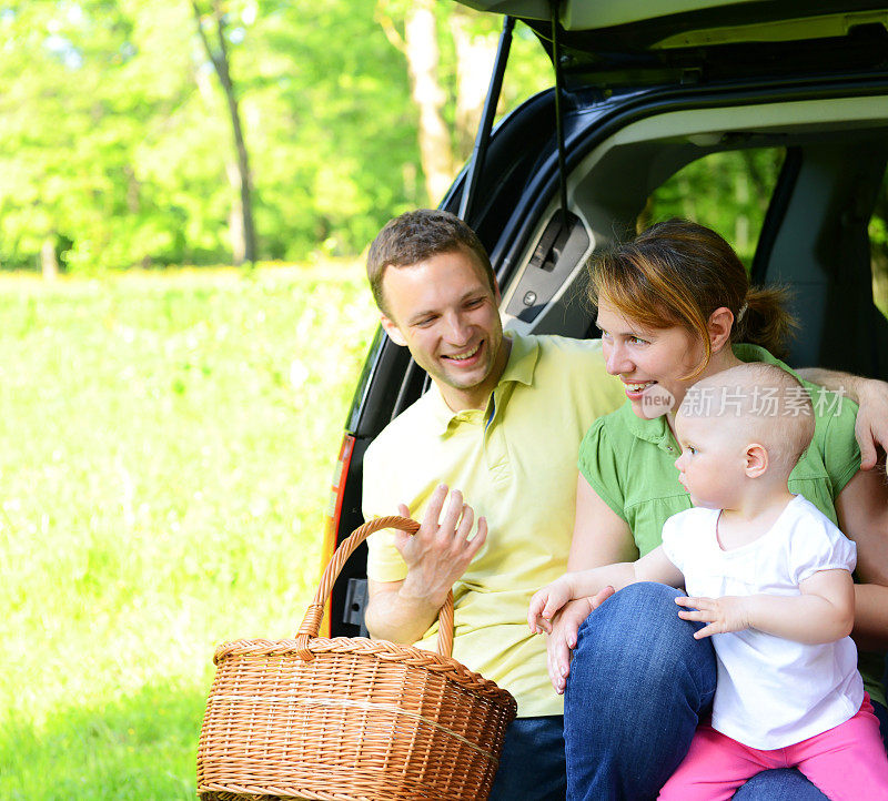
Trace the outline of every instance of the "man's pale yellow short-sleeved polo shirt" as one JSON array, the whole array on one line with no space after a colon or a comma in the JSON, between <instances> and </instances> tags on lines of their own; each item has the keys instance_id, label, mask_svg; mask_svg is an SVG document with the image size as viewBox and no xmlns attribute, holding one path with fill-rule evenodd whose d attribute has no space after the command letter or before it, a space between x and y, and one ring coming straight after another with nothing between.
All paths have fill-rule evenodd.
<instances>
[{"instance_id":1,"label":"man's pale yellow short-sleeved polo shirt","mask_svg":"<svg viewBox=\"0 0 888 801\"><path fill-rule=\"evenodd\" d=\"M583 435L625 394L605 371L598 339L506 335L512 352L486 409L454 413L433 385L371 444L364 518L396 515L403 503L421 519L438 484L461 489L490 531L453 587L453 656L512 692L519 717L561 714L527 605L566 570ZM373 535L369 548L370 578L406 576L390 531ZM436 632L437 625L417 645L434 649Z\"/></svg>"}]
</instances>

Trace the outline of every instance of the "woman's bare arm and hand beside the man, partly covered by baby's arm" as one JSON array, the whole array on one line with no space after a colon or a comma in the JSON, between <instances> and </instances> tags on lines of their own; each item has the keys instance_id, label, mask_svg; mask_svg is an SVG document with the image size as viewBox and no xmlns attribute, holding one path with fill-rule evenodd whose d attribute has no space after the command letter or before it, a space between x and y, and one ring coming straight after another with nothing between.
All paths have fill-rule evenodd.
<instances>
[{"instance_id":1,"label":"woman's bare arm and hand beside the man, partly covered by baby's arm","mask_svg":"<svg viewBox=\"0 0 888 801\"><path fill-rule=\"evenodd\" d=\"M574 538L567 557L571 571L587 570L601 565L633 561L638 549L628 524L602 500L589 483L579 475L576 486L576 519ZM576 645L576 632L589 612L613 592L605 589L595 598L572 601L555 616L548 635L548 675L558 692L564 691L571 663L571 649Z\"/></svg>"}]
</instances>

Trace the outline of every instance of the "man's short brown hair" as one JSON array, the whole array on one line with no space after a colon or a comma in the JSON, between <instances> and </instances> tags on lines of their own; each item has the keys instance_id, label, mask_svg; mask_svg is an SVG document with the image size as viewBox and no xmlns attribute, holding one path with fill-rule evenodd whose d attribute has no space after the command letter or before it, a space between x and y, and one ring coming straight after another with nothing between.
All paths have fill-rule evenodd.
<instances>
[{"instance_id":1,"label":"man's short brown hair","mask_svg":"<svg viewBox=\"0 0 888 801\"><path fill-rule=\"evenodd\" d=\"M373 300L387 314L382 280L387 267L407 267L438 253L468 251L484 270L491 291L496 291L490 256L477 234L460 217L434 209L417 209L390 220L367 253L367 278Z\"/></svg>"}]
</instances>

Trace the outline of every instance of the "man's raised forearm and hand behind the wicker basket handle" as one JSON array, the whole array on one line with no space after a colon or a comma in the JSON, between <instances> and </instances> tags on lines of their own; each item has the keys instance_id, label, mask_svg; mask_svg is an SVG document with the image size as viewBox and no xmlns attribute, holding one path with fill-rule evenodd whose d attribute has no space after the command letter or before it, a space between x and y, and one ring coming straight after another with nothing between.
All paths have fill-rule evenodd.
<instances>
[{"instance_id":1,"label":"man's raised forearm and hand behind the wicker basket handle","mask_svg":"<svg viewBox=\"0 0 888 801\"><path fill-rule=\"evenodd\" d=\"M487 523L478 519L477 531L470 539L474 511L463 504L458 490L451 494L441 517L447 487L432 494L420 530L413 536L395 531L395 547L407 565L402 581L367 582L367 608L364 620L375 639L412 643L421 639L444 606L447 592L487 537ZM400 507L410 516L405 506Z\"/></svg>"}]
</instances>

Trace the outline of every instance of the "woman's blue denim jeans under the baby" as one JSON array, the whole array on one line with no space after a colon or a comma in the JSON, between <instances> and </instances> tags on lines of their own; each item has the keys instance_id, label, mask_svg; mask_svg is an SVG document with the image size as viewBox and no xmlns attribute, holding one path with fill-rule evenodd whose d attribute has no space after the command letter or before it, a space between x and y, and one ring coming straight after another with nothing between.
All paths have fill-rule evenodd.
<instances>
[{"instance_id":1,"label":"woman's blue denim jeans under the baby","mask_svg":"<svg viewBox=\"0 0 888 801\"><path fill-rule=\"evenodd\" d=\"M712 706L712 642L678 617L682 595L658 584L626 587L579 628L567 679L564 740L569 801L655 799ZM521 798L521 797L516 797ZM737 801L824 801L795 770L769 770Z\"/></svg>"}]
</instances>

